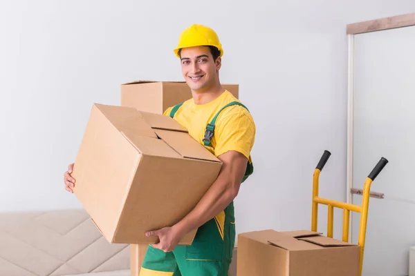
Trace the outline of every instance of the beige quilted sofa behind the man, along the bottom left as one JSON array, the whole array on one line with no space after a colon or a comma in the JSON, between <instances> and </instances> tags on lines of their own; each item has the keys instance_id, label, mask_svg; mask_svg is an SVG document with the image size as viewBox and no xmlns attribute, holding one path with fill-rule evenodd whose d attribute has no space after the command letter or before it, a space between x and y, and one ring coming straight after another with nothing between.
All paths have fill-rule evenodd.
<instances>
[{"instance_id":1,"label":"beige quilted sofa behind the man, along the bottom left","mask_svg":"<svg viewBox=\"0 0 415 276\"><path fill-rule=\"evenodd\" d=\"M109 244L83 209L0 213L1 276L129 276L129 268L130 246Z\"/></svg>"}]
</instances>

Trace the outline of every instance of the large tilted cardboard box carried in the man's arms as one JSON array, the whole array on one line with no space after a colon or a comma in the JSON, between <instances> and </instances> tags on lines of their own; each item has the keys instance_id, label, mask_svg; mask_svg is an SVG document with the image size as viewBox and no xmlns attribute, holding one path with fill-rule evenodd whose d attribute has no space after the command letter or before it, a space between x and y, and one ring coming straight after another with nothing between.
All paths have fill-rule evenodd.
<instances>
[{"instance_id":1,"label":"large tilted cardboard box carried in the man's arms","mask_svg":"<svg viewBox=\"0 0 415 276\"><path fill-rule=\"evenodd\" d=\"M152 244L196 206L221 161L174 119L94 104L75 159L74 193L111 243ZM191 244L196 230L180 244Z\"/></svg>"}]
</instances>

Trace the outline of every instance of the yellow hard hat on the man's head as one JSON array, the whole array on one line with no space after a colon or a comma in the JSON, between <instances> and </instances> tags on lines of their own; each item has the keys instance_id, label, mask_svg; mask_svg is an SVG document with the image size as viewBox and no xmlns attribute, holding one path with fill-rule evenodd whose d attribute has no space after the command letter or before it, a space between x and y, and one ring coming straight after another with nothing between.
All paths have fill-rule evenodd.
<instances>
[{"instance_id":1,"label":"yellow hard hat on the man's head","mask_svg":"<svg viewBox=\"0 0 415 276\"><path fill-rule=\"evenodd\" d=\"M214 46L219 49L221 57L223 55L222 44L219 41L218 35L211 28L203 25L193 24L192 26L187 27L181 33L180 38L178 39L177 48L174 49L174 53L177 57L180 57L178 51L181 48L194 46Z\"/></svg>"}]
</instances>

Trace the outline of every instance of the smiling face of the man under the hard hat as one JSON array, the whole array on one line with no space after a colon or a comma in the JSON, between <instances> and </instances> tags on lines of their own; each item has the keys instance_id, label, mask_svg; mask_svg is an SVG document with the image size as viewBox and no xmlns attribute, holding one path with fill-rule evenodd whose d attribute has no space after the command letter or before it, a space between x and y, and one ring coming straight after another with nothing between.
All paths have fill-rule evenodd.
<instances>
[{"instance_id":1,"label":"smiling face of the man under the hard hat","mask_svg":"<svg viewBox=\"0 0 415 276\"><path fill-rule=\"evenodd\" d=\"M194 91L206 90L218 81L221 57L213 60L209 47L198 46L181 50L182 74Z\"/></svg>"}]
</instances>

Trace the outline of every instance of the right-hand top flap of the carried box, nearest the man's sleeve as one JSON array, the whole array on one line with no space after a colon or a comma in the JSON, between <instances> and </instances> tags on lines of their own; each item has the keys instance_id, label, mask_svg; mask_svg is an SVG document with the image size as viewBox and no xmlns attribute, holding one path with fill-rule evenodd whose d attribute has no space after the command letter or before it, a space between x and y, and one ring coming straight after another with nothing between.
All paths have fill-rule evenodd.
<instances>
[{"instance_id":1,"label":"right-hand top flap of the carried box, nearest the man's sleeve","mask_svg":"<svg viewBox=\"0 0 415 276\"><path fill-rule=\"evenodd\" d=\"M209 150L185 132L158 129L154 130L154 132L184 158L221 162Z\"/></svg>"}]
</instances>

